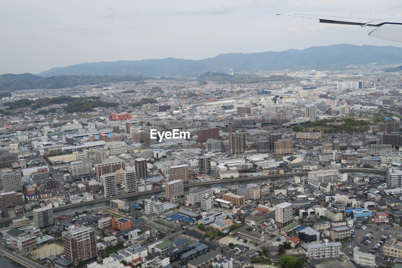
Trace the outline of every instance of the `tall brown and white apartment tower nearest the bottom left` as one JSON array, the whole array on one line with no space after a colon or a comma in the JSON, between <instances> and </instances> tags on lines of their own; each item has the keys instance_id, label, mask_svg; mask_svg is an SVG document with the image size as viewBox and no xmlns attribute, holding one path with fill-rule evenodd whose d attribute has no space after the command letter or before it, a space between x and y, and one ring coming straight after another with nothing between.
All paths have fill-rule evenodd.
<instances>
[{"instance_id":1,"label":"tall brown and white apartment tower nearest the bottom left","mask_svg":"<svg viewBox=\"0 0 402 268\"><path fill-rule=\"evenodd\" d=\"M78 263L98 256L95 229L80 226L62 232L64 258Z\"/></svg>"}]
</instances>

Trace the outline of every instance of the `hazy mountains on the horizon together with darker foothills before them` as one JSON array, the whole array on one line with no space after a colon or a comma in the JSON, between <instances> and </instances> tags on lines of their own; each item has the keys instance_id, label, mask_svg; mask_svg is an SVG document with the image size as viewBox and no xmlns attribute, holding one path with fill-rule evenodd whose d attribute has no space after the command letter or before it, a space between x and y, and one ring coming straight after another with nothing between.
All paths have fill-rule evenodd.
<instances>
[{"instance_id":1,"label":"hazy mountains on the horizon together with darker foothills before them","mask_svg":"<svg viewBox=\"0 0 402 268\"><path fill-rule=\"evenodd\" d=\"M117 62L92 62L51 68L37 75L0 75L0 91L19 89L59 89L80 85L98 85L108 82L141 81L165 76L196 77L197 80L227 80L230 82L262 82L288 79L284 77L254 77L244 80L239 72L275 70L340 70L349 65L400 64L402 47L373 45L329 45L303 50L288 49L283 52L220 54L203 60L166 58L159 60L133 60ZM226 78L234 70L235 76ZM387 71L401 71L388 68ZM249 75L249 78L251 76ZM176 78L174 78L176 79ZM186 78L185 78L186 79Z\"/></svg>"}]
</instances>

